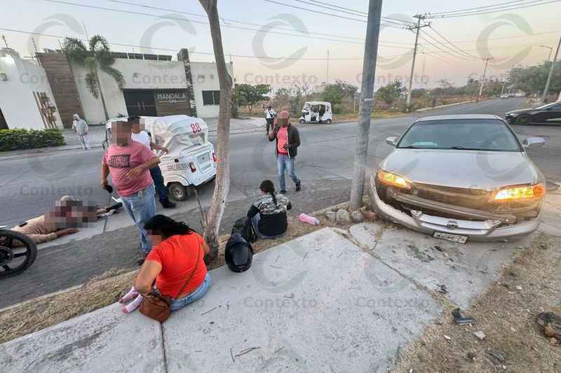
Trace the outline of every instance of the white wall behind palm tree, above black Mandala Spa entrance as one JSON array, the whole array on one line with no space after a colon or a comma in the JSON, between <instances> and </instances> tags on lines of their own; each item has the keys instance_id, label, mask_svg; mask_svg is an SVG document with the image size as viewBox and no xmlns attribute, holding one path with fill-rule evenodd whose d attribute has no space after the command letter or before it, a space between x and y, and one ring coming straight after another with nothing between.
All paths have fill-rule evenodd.
<instances>
[{"instance_id":1,"label":"white wall behind palm tree, above black Mandala Spa entrance","mask_svg":"<svg viewBox=\"0 0 561 373\"><path fill-rule=\"evenodd\" d=\"M113 67L123 74L125 89L185 89L187 84L183 62L118 58L115 59ZM72 64L72 71L86 120L90 124L105 122L101 99L95 99L86 87L86 69ZM103 72L100 73L100 80L109 117L115 118L117 113L126 115L123 92L119 90L115 81Z\"/></svg>"}]
</instances>

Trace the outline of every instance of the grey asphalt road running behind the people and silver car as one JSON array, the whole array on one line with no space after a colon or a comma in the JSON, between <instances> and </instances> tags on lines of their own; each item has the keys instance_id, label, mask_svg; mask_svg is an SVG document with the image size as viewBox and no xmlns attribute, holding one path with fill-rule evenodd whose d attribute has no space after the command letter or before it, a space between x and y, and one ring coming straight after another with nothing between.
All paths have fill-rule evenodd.
<instances>
[{"instance_id":1,"label":"grey asphalt road running behind the people and silver car","mask_svg":"<svg viewBox=\"0 0 561 373\"><path fill-rule=\"evenodd\" d=\"M524 99L480 101L440 108L432 113L373 120L370 129L367 167L377 164L391 151L385 139L400 136L417 118L427 115L486 113L503 116L506 111L525 107ZM302 145L298 150L297 176L302 191L295 192L287 180L288 197L295 210L311 212L349 199L356 143L356 122L330 125L299 125ZM546 146L530 150L529 155L551 181L561 182L561 126L514 126L520 139L541 136ZM210 139L212 142L215 139ZM99 188L100 148L29 154L9 154L0 159L0 224L13 226L39 216L62 195L106 205L107 192ZM269 178L276 183L273 146L263 132L234 134L230 137L231 190L222 221L227 232L236 218L245 215L258 195L259 183ZM214 183L198 188L203 206L210 204ZM201 214L194 198L180 203L175 210L158 209L201 229ZM134 268L140 254L138 231L125 213L111 216L107 232L102 222L95 227L39 246L36 262L26 272L0 280L0 308L39 295L85 283L92 276L114 267Z\"/></svg>"}]
</instances>

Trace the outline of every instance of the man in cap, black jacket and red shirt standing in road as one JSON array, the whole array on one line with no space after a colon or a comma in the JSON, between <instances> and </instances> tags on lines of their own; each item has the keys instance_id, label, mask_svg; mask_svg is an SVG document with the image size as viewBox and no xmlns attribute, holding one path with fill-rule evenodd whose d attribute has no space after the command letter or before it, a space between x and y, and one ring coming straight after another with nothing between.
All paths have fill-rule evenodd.
<instances>
[{"instance_id":1,"label":"man in cap, black jacket and red shirt standing in road","mask_svg":"<svg viewBox=\"0 0 561 373\"><path fill-rule=\"evenodd\" d=\"M295 158L300 146L300 135L298 129L288 121L288 111L281 111L277 115L276 124L269 134L269 141L276 141L275 155L278 167L278 180L280 182L280 194L286 193L285 171L296 185L296 191L302 189L302 183L296 177L294 167Z\"/></svg>"}]
</instances>

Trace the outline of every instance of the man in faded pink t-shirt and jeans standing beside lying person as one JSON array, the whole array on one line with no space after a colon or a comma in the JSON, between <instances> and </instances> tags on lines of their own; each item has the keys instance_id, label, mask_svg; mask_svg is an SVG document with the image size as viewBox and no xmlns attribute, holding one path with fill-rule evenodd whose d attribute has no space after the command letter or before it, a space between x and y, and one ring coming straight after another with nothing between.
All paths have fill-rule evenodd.
<instances>
[{"instance_id":1,"label":"man in faded pink t-shirt and jeans standing beside lying person","mask_svg":"<svg viewBox=\"0 0 561 373\"><path fill-rule=\"evenodd\" d=\"M140 228L142 256L137 263L142 265L152 249L144 223L156 215L155 189L149 169L160 163L160 159L144 144L130 138L132 126L132 122L111 123L111 145L101 164L101 187L106 187L107 176L111 174L123 208Z\"/></svg>"}]
</instances>

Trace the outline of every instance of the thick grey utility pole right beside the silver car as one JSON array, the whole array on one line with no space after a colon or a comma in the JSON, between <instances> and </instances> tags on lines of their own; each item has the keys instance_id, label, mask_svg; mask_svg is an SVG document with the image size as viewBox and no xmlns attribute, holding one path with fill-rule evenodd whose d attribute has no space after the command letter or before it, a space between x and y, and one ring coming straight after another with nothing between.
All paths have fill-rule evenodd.
<instances>
[{"instance_id":1,"label":"thick grey utility pole right beside the silver car","mask_svg":"<svg viewBox=\"0 0 561 373\"><path fill-rule=\"evenodd\" d=\"M374 79L376 77L376 56L380 34L382 0L370 0L368 21L366 24L366 41L364 45L363 82L360 85L360 105L358 106L358 129L356 131L355 162L353 184L351 187L351 210L358 210L363 203L366 157L370 136L370 117L374 97Z\"/></svg>"}]
</instances>

